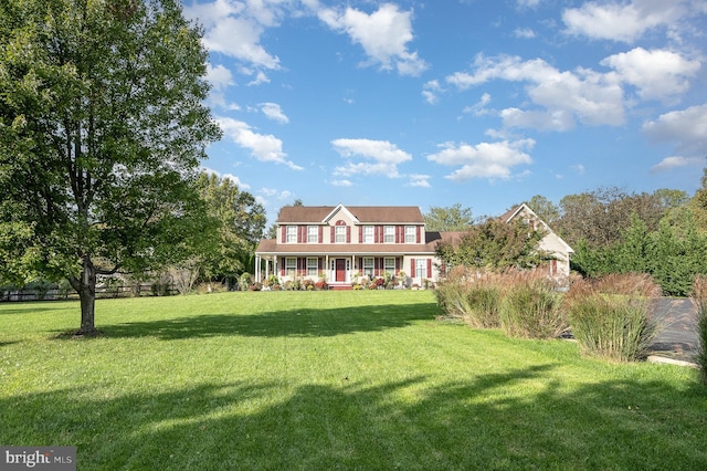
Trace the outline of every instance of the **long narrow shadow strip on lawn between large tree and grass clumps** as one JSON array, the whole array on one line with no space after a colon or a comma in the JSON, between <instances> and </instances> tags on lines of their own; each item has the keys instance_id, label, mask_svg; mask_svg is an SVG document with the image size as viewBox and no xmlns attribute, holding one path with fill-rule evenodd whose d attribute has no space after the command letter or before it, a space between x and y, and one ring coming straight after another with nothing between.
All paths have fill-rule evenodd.
<instances>
[{"instance_id":1,"label":"long narrow shadow strip on lawn between large tree and grass clumps","mask_svg":"<svg viewBox=\"0 0 707 471\"><path fill-rule=\"evenodd\" d=\"M108 337L154 336L165 341L239 335L254 337L333 336L400 328L433 320L436 304L395 304L342 308L295 308L257 314L202 314L102 326Z\"/></svg>"}]
</instances>

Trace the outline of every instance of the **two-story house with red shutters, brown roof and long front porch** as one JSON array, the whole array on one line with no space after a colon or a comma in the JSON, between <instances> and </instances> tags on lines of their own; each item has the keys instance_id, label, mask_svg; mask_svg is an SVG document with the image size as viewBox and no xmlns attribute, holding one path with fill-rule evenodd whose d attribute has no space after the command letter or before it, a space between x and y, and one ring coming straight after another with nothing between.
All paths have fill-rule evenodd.
<instances>
[{"instance_id":1,"label":"two-story house with red shutters, brown roof and long front porch","mask_svg":"<svg viewBox=\"0 0 707 471\"><path fill-rule=\"evenodd\" d=\"M527 218L549 233L540 245L556 253L553 274L569 274L572 249L526 206L504 220ZM276 221L277 238L263 239L255 251L255 281L275 274L281 282L318 280L324 275L333 287L347 287L360 278L369 280L386 272L404 272L409 284L422 286L440 279L436 247L461 233L428 232L424 217L411 206L286 206Z\"/></svg>"}]
</instances>

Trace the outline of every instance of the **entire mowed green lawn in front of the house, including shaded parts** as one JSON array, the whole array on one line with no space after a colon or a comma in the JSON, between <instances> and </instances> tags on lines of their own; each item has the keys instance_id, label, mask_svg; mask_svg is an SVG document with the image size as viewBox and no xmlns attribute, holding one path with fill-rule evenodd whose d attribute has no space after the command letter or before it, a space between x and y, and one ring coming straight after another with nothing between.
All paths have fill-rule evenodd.
<instances>
[{"instance_id":1,"label":"entire mowed green lawn in front of the house, including shaded parts","mask_svg":"<svg viewBox=\"0 0 707 471\"><path fill-rule=\"evenodd\" d=\"M431 292L0 304L0 443L80 470L707 469L694 369L435 321Z\"/></svg>"}]
</instances>

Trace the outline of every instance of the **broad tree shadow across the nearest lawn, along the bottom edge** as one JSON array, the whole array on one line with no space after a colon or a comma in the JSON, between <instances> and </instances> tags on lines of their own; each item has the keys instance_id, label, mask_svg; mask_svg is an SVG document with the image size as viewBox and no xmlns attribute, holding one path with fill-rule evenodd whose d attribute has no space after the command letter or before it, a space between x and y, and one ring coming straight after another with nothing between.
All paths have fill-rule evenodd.
<instances>
[{"instance_id":1,"label":"broad tree shadow across the nearest lawn, along the bottom edge","mask_svg":"<svg viewBox=\"0 0 707 471\"><path fill-rule=\"evenodd\" d=\"M82 470L707 468L704 391L619 379L566 390L553 368L6 396L0 442L76 446Z\"/></svg>"}]
</instances>

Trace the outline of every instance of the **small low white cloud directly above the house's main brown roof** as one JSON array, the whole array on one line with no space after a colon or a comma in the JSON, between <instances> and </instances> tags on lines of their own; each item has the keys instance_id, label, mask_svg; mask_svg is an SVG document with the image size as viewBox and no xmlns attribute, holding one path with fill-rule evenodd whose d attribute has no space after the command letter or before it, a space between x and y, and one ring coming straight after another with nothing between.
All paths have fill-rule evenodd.
<instances>
[{"instance_id":1,"label":"small low white cloud directly above the house's main brown roof","mask_svg":"<svg viewBox=\"0 0 707 471\"><path fill-rule=\"evenodd\" d=\"M412 160L412 156L387 140L335 139L334 149L345 158L362 157L363 161L349 163L337 167L335 175L380 175L389 178L400 177L398 165Z\"/></svg>"}]
</instances>

